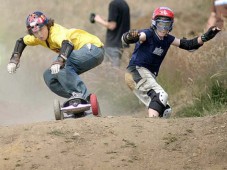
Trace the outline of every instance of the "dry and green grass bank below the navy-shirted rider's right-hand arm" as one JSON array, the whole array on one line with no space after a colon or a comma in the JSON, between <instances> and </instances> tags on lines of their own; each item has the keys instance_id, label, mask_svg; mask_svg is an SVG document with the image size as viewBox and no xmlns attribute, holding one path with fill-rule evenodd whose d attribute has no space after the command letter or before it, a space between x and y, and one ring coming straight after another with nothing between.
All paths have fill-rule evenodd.
<instances>
[{"instance_id":1,"label":"dry and green grass bank below the navy-shirted rider's right-hand arm","mask_svg":"<svg viewBox=\"0 0 227 170\"><path fill-rule=\"evenodd\" d=\"M173 109L177 106L175 116L200 117L226 110L225 34L220 33L192 53L174 47L170 49L159 81L169 93Z\"/></svg>"}]
</instances>

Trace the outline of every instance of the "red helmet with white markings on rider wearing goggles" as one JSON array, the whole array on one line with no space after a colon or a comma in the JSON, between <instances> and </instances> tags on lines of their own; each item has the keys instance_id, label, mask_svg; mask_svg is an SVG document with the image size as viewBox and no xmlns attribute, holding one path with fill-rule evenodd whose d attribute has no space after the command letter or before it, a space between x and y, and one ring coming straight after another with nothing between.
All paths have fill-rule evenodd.
<instances>
[{"instance_id":1,"label":"red helmet with white markings on rider wearing goggles","mask_svg":"<svg viewBox=\"0 0 227 170\"><path fill-rule=\"evenodd\" d=\"M159 7L154 10L152 16L152 25L154 28L171 31L173 28L173 22L174 13L170 8ZM158 26L159 23L161 27Z\"/></svg>"}]
</instances>

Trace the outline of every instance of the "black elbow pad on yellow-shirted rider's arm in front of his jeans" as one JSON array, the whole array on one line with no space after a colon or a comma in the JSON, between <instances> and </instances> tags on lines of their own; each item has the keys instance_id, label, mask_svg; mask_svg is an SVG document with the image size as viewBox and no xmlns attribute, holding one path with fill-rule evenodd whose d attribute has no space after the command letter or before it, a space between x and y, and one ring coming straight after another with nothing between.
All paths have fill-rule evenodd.
<instances>
[{"instance_id":1,"label":"black elbow pad on yellow-shirted rider's arm in front of his jeans","mask_svg":"<svg viewBox=\"0 0 227 170\"><path fill-rule=\"evenodd\" d=\"M68 40L62 41L59 57L63 58L64 60L67 60L73 49L74 49L73 43L71 43Z\"/></svg>"}]
</instances>

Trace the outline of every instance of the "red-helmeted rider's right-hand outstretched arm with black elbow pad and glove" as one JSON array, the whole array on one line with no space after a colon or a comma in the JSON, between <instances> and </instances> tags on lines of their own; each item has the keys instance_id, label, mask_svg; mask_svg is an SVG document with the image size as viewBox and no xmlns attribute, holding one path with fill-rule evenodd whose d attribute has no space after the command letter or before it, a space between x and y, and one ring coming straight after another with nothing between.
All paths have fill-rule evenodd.
<instances>
[{"instance_id":1,"label":"red-helmeted rider's right-hand outstretched arm with black elbow pad and glove","mask_svg":"<svg viewBox=\"0 0 227 170\"><path fill-rule=\"evenodd\" d=\"M212 26L202 36L193 38L191 40L175 38L172 45L175 45L185 50L196 50L200 48L204 42L207 42L214 38L219 31L221 31L220 28Z\"/></svg>"}]
</instances>

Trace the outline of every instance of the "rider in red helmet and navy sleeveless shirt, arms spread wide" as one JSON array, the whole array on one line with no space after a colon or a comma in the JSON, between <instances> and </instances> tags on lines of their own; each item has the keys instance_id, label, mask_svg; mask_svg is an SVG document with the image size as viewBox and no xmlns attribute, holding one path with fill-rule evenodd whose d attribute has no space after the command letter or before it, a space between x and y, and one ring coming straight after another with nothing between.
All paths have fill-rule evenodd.
<instances>
[{"instance_id":1,"label":"rider in red helmet and navy sleeveless shirt, arms spread wide","mask_svg":"<svg viewBox=\"0 0 227 170\"><path fill-rule=\"evenodd\" d=\"M174 13L167 7L154 10L151 28L129 30L122 36L125 44L136 43L127 67L125 80L129 88L148 108L149 117L169 117L171 108L168 94L158 84L156 77L171 45L185 50L196 50L220 31L212 26L202 36L178 39L169 34L173 28Z\"/></svg>"}]
</instances>

